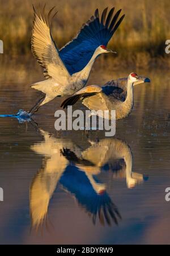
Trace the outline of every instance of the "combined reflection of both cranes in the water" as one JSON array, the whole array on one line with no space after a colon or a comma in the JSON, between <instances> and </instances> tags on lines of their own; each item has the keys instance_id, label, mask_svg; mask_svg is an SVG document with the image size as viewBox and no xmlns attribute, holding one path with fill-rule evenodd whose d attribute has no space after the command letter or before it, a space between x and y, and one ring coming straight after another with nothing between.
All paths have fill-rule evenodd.
<instances>
[{"instance_id":1,"label":"combined reflection of both cranes in the water","mask_svg":"<svg viewBox=\"0 0 170 256\"><path fill-rule=\"evenodd\" d=\"M129 188L143 181L143 175L132 173L132 154L129 146L118 139L87 141L82 149L71 140L56 138L39 130L44 141L31 146L37 154L44 156L42 167L30 188L30 212L32 226L39 228L48 212L49 200L57 184L74 196L78 204L86 209L96 223L99 215L101 225L111 220L118 224L121 215L106 191L106 185L96 175L112 171L113 178L126 178Z\"/></svg>"}]
</instances>

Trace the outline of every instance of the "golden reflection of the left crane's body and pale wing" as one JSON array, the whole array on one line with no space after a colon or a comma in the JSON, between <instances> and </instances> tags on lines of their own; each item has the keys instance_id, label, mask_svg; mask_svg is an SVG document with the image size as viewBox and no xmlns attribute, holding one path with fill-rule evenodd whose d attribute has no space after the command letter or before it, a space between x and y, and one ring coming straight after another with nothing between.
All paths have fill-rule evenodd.
<instances>
[{"instance_id":1,"label":"golden reflection of the left crane's body and pale wing","mask_svg":"<svg viewBox=\"0 0 170 256\"><path fill-rule=\"evenodd\" d=\"M61 150L65 144L62 139L55 139L49 133L40 130L44 141L31 146L37 154L44 156L42 167L32 181L30 189L30 209L32 225L39 226L48 211L49 200L57 186L68 161L62 156Z\"/></svg>"}]
</instances>

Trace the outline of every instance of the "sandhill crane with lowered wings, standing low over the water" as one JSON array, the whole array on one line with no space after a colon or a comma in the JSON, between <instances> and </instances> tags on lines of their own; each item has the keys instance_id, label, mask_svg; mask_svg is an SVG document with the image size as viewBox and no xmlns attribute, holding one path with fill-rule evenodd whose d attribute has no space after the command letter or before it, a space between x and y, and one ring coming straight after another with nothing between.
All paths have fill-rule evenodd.
<instances>
[{"instance_id":1,"label":"sandhill crane with lowered wings, standing low over the water","mask_svg":"<svg viewBox=\"0 0 170 256\"><path fill-rule=\"evenodd\" d=\"M122 119L128 116L133 108L133 86L144 82L150 82L150 79L138 77L136 73L131 73L128 78L117 79L117 81L107 83L103 87L86 86L64 100L61 107L71 106L80 99L84 106L90 110L116 110L116 119ZM121 83L125 90L121 89ZM111 119L111 115L109 115L109 119Z\"/></svg>"}]
</instances>

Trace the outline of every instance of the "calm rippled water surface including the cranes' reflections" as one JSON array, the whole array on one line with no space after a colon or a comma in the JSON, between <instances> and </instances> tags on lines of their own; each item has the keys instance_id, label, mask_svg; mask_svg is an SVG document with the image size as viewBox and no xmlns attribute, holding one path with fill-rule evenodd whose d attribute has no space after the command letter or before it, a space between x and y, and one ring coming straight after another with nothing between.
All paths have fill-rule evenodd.
<instances>
[{"instance_id":1,"label":"calm rippled water surface including the cranes' reflections","mask_svg":"<svg viewBox=\"0 0 170 256\"><path fill-rule=\"evenodd\" d=\"M39 66L2 67L0 114L28 110ZM0 119L1 244L169 244L170 77L159 70L103 73L99 85L130 72L150 77L134 89L131 115L103 132L56 132L60 99L33 123ZM77 107L82 107L80 104Z\"/></svg>"}]
</instances>

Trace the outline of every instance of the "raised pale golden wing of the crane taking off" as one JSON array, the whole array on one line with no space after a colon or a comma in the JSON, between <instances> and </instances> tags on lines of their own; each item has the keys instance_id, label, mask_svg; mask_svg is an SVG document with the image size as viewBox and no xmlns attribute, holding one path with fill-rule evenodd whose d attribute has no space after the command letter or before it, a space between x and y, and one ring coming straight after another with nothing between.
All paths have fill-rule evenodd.
<instances>
[{"instance_id":1,"label":"raised pale golden wing of the crane taking off","mask_svg":"<svg viewBox=\"0 0 170 256\"><path fill-rule=\"evenodd\" d=\"M48 16L46 17L45 6L43 9L43 14L41 14L41 11L39 10L39 15L37 15L35 8L33 7L34 19L32 27L31 49L33 55L44 70L43 73L45 78L69 78L70 74L59 57L58 49L50 33L50 16L53 9L54 7L49 11ZM56 14L57 12L54 15Z\"/></svg>"}]
</instances>

